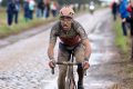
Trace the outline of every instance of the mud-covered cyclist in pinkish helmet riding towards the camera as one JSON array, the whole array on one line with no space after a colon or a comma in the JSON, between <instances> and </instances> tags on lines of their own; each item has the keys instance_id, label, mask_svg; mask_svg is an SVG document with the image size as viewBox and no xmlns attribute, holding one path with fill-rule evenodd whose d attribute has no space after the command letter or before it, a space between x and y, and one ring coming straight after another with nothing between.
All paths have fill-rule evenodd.
<instances>
[{"instance_id":1,"label":"mud-covered cyclist in pinkish helmet riding towards the camera","mask_svg":"<svg viewBox=\"0 0 133 89\"><path fill-rule=\"evenodd\" d=\"M83 27L73 20L74 11L71 7L63 7L60 10L60 21L51 29L48 56L50 58L49 66L54 68L54 46L57 38L61 40L59 43L58 61L69 61L71 51L74 52L75 61L83 63L78 67L78 89L83 89L83 72L89 69L89 58L91 47ZM66 66L59 66L58 88L65 87Z\"/></svg>"}]
</instances>

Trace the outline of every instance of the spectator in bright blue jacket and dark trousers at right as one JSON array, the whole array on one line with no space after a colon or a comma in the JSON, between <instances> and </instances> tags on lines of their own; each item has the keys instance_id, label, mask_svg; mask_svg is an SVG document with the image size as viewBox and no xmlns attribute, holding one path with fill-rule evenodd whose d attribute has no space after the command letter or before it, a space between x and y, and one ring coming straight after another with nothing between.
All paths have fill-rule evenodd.
<instances>
[{"instance_id":1,"label":"spectator in bright blue jacket and dark trousers at right","mask_svg":"<svg viewBox=\"0 0 133 89\"><path fill-rule=\"evenodd\" d=\"M127 22L124 21L125 19L129 18L129 12L126 10L127 4L129 4L127 0L120 0L120 17L122 19L122 30L124 36L127 36L127 30L126 30Z\"/></svg>"}]
</instances>

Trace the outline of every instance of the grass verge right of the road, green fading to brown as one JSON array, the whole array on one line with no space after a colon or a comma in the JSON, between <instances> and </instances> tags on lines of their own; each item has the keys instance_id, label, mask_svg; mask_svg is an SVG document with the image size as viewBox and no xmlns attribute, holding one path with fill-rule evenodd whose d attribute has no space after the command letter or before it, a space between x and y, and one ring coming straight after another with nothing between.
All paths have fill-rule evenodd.
<instances>
[{"instance_id":1,"label":"grass verge right of the road, green fading to brown","mask_svg":"<svg viewBox=\"0 0 133 89\"><path fill-rule=\"evenodd\" d=\"M120 19L114 22L114 30L116 33L115 44L120 49L120 61L122 61L120 63L120 77L122 79L123 87L125 87L122 89L133 89L133 62L129 59L131 52L129 51L130 46L127 44L130 38L123 36Z\"/></svg>"}]
</instances>

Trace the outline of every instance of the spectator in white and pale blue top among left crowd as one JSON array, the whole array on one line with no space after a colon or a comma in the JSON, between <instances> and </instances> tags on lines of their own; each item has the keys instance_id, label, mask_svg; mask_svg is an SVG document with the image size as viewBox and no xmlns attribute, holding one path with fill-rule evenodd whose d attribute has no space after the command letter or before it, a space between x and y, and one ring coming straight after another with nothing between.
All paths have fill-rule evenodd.
<instances>
[{"instance_id":1,"label":"spectator in white and pale blue top among left crowd","mask_svg":"<svg viewBox=\"0 0 133 89\"><path fill-rule=\"evenodd\" d=\"M31 20L33 19L34 8L35 8L35 1L34 0L29 0L29 18Z\"/></svg>"}]
</instances>

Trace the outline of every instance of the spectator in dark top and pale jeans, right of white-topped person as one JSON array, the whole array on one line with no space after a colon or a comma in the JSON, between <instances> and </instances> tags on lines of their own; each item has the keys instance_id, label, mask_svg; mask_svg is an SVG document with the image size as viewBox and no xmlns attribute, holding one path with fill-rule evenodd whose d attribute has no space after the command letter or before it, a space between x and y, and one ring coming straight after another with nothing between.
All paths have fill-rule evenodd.
<instances>
[{"instance_id":1,"label":"spectator in dark top and pale jeans, right of white-topped person","mask_svg":"<svg viewBox=\"0 0 133 89\"><path fill-rule=\"evenodd\" d=\"M43 17L44 16L44 2L43 0L37 1L37 17Z\"/></svg>"}]
</instances>

